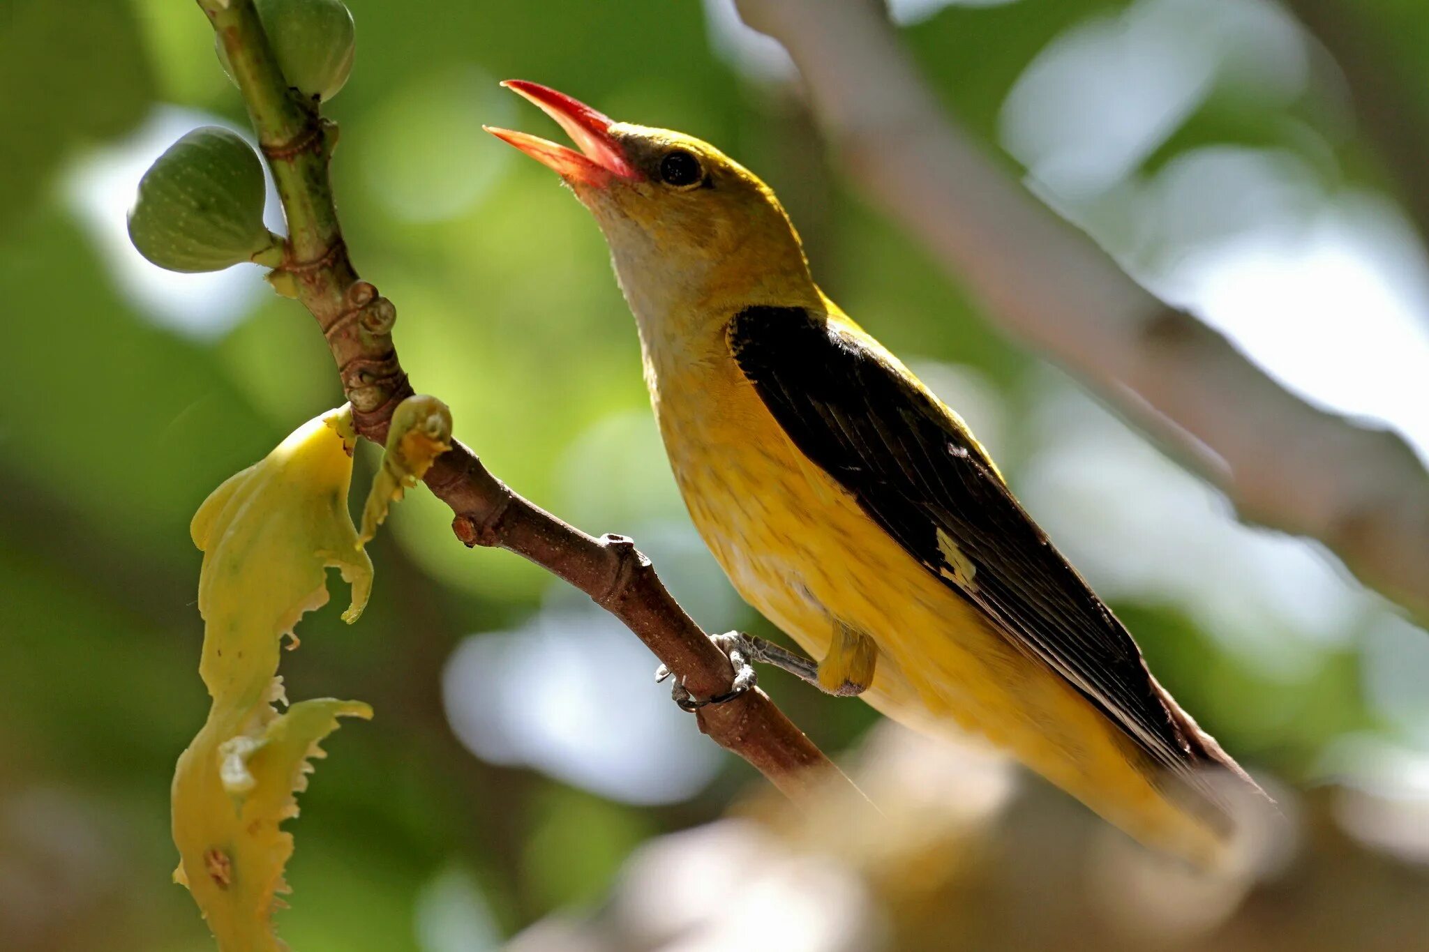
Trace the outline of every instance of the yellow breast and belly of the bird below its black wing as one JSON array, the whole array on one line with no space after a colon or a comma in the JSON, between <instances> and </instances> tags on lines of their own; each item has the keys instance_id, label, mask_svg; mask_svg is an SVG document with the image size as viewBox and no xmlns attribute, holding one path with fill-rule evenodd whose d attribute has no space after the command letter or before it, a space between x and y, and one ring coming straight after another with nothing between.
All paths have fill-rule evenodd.
<instances>
[{"instance_id":1,"label":"yellow breast and belly of the bird below its black wing","mask_svg":"<svg viewBox=\"0 0 1429 952\"><path fill-rule=\"evenodd\" d=\"M746 601L816 659L835 619L872 637L863 698L887 716L982 735L1132 835L1213 855L1215 835L1162 795L1120 728L802 457L732 363L697 373L652 375L656 415L694 525Z\"/></svg>"}]
</instances>

